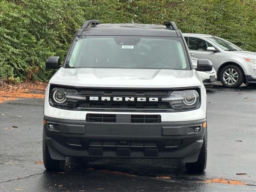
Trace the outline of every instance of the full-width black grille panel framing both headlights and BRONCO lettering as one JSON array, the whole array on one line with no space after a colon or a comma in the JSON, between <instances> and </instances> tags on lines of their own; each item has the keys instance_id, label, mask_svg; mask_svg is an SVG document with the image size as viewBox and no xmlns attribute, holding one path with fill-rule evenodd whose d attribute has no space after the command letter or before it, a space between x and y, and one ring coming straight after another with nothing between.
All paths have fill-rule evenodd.
<instances>
[{"instance_id":1,"label":"full-width black grille panel framing both headlights and BRONCO lettering","mask_svg":"<svg viewBox=\"0 0 256 192\"><path fill-rule=\"evenodd\" d=\"M199 100L198 105L192 109L175 110L169 102L162 101L162 98L168 97L172 91L181 90L196 90L199 95L200 87L189 88L82 88L74 86L59 86L50 85L50 92L53 88L74 89L78 91L80 96L93 97L134 97L134 101L101 101L99 100L80 100L74 107L54 105L49 97L49 103L56 108L66 110L79 111L113 111L113 112L178 112L198 109L201 105ZM146 101L136 101L137 98L146 98ZM158 98L158 101L150 102L149 98ZM201 96L200 96L201 98Z\"/></svg>"}]
</instances>

